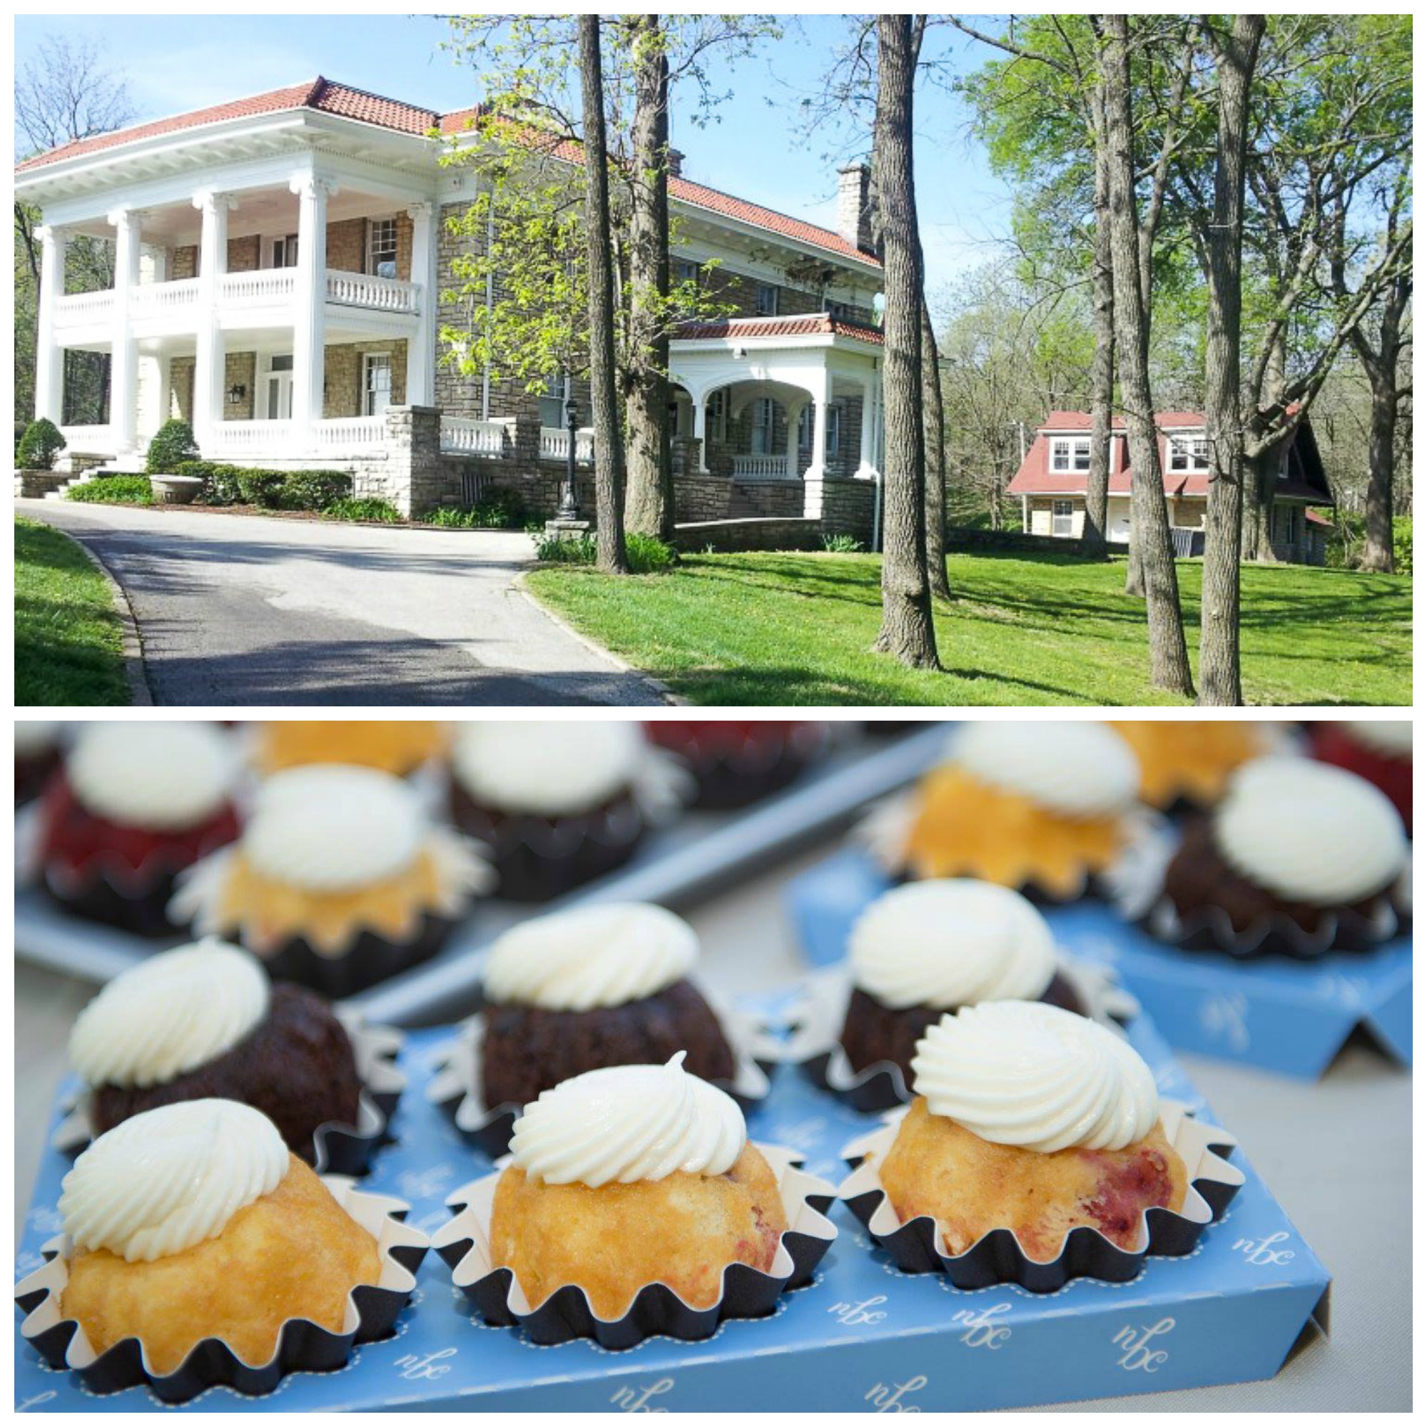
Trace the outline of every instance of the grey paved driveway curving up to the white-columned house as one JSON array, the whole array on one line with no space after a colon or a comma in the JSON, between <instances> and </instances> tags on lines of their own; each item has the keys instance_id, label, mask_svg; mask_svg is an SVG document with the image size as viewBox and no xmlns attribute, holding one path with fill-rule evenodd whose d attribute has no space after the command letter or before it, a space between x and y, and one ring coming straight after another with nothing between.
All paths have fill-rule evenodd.
<instances>
[{"instance_id":1,"label":"grey paved driveway curving up to the white-columned house","mask_svg":"<svg viewBox=\"0 0 1427 1427\"><path fill-rule=\"evenodd\" d=\"M124 586L156 704L658 704L514 581L529 538L16 501Z\"/></svg>"}]
</instances>

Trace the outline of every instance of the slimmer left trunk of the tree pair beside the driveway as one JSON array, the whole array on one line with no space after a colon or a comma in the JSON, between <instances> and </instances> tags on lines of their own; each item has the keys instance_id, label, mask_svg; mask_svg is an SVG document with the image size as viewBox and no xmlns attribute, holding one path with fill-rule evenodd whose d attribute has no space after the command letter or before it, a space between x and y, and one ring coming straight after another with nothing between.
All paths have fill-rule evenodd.
<instances>
[{"instance_id":1,"label":"slimmer left trunk of the tree pair beside the driveway","mask_svg":"<svg viewBox=\"0 0 1427 1427\"><path fill-rule=\"evenodd\" d=\"M579 17L579 87L585 126L585 243L589 253L589 405L595 424L595 562L629 572L624 548L624 442L615 390L614 251L609 243L609 161L599 16Z\"/></svg>"}]
</instances>

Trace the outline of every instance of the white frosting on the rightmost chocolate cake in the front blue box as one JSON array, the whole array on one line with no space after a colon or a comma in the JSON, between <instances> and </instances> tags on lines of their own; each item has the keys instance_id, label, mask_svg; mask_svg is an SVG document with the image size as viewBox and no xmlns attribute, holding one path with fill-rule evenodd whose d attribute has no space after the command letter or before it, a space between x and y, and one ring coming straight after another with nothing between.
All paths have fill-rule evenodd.
<instances>
[{"instance_id":1,"label":"white frosting on the rightmost chocolate cake in the front blue box","mask_svg":"<svg viewBox=\"0 0 1427 1427\"><path fill-rule=\"evenodd\" d=\"M1036 1000L1056 973L1046 919L992 882L908 882L858 918L848 942L852 979L883 1006L970 1006Z\"/></svg>"}]
</instances>

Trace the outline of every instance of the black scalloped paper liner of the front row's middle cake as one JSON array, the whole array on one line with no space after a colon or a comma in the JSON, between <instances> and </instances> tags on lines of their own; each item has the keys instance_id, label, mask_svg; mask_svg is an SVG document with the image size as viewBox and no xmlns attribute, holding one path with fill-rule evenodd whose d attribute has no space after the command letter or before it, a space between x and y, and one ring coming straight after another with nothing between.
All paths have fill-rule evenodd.
<instances>
[{"instance_id":1,"label":"black scalloped paper liner of the front row's middle cake","mask_svg":"<svg viewBox=\"0 0 1427 1427\"><path fill-rule=\"evenodd\" d=\"M806 1203L825 1213L835 1196L808 1194ZM822 1200L822 1203L819 1203ZM464 1207L464 1206L462 1206ZM457 1209L459 1213L459 1209ZM725 1319L765 1319L778 1307L785 1291L806 1287L823 1254L832 1247L831 1239L815 1239L796 1229L785 1230L783 1246L793 1261L792 1274L783 1280L733 1263L723 1270L723 1293L708 1309L692 1309L671 1287L651 1283L642 1287L624 1317L609 1321L595 1314L589 1299L574 1284L557 1289L534 1313L524 1317L509 1306L509 1290L515 1281L509 1269L492 1269L482 1279L462 1289L481 1317L492 1327L519 1329L541 1347L555 1347L575 1339L594 1339L611 1351L636 1347L645 1339L664 1336L682 1343L711 1339ZM437 1251L452 1271L472 1244L462 1239Z\"/></svg>"}]
</instances>

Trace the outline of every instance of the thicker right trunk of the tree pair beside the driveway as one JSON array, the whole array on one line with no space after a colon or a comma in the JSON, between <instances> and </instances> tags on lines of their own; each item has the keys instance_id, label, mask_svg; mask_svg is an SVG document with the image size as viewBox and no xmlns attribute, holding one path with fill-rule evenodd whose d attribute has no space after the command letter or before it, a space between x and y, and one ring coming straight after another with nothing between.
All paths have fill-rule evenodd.
<instances>
[{"instance_id":1,"label":"thicker right trunk of the tree pair beside the driveway","mask_svg":"<svg viewBox=\"0 0 1427 1427\"><path fill-rule=\"evenodd\" d=\"M631 20L635 107L629 211L634 390L628 401L625 528L671 539L669 451L669 57L659 16Z\"/></svg>"}]
</instances>

